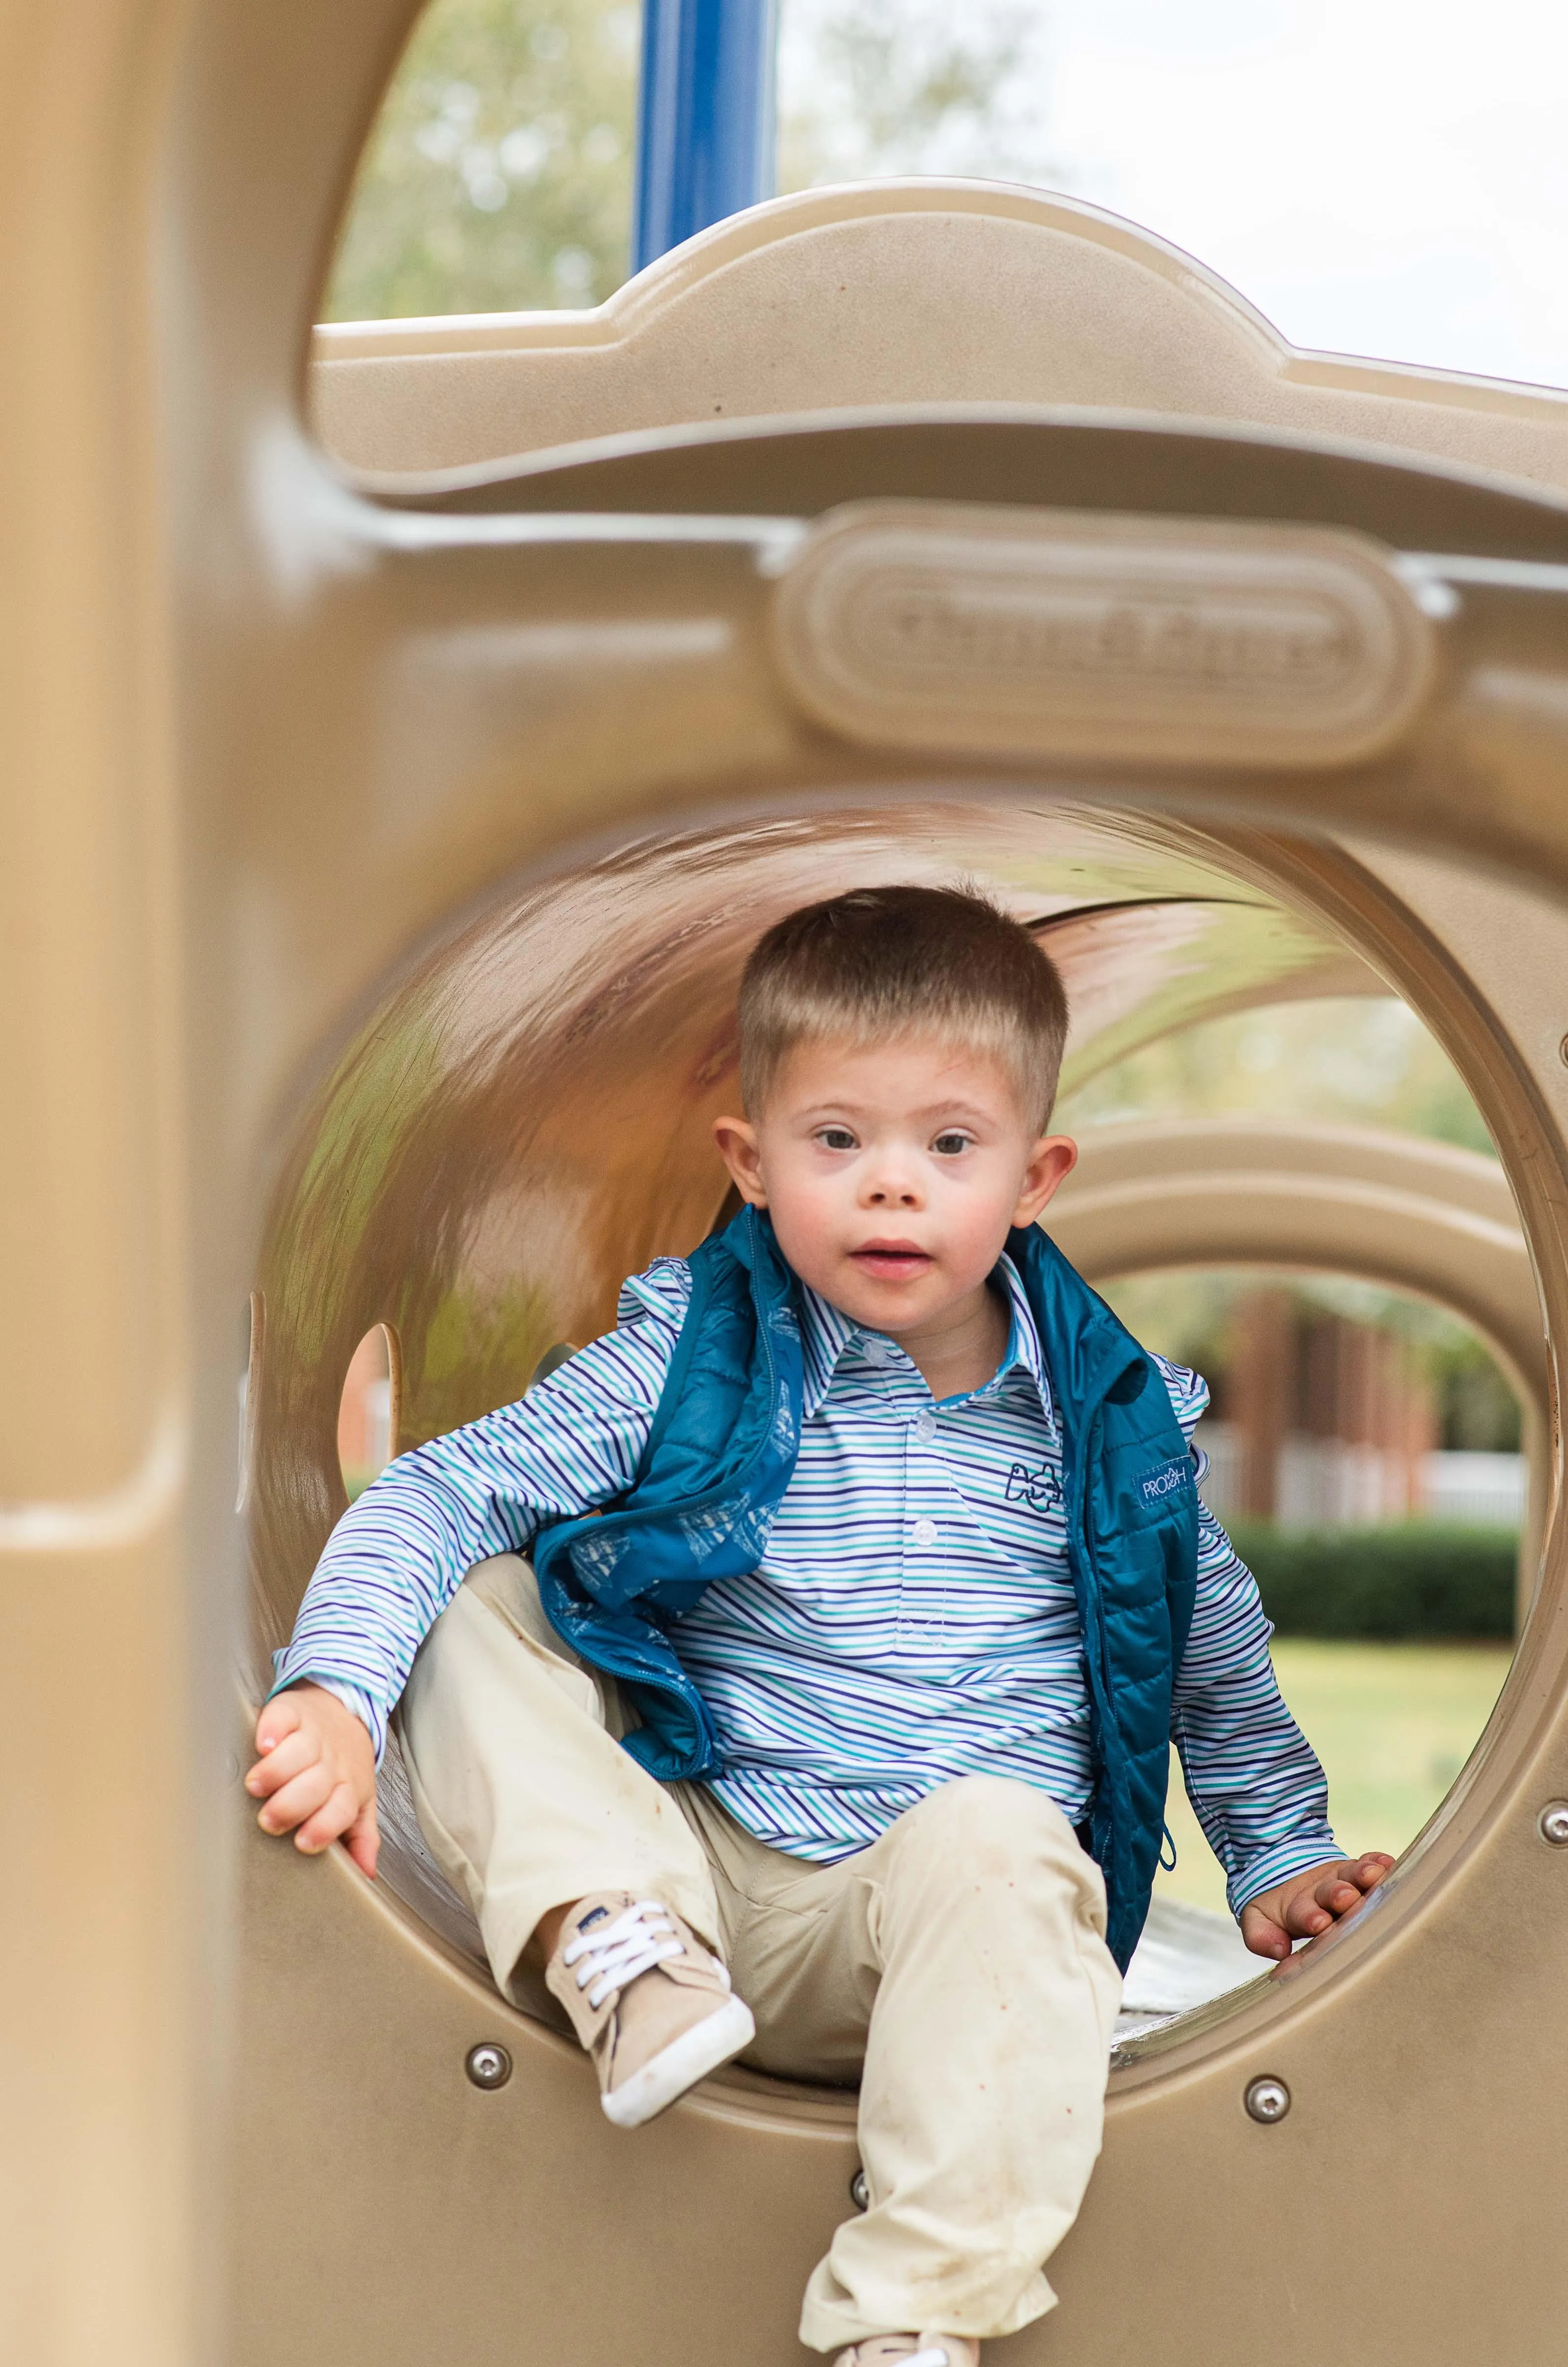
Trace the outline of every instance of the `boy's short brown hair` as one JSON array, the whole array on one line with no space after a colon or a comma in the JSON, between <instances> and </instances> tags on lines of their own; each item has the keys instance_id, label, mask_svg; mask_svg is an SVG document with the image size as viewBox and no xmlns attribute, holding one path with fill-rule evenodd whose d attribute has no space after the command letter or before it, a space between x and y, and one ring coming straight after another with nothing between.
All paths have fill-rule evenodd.
<instances>
[{"instance_id":1,"label":"boy's short brown hair","mask_svg":"<svg viewBox=\"0 0 1568 2367\"><path fill-rule=\"evenodd\" d=\"M796 1044L931 1032L990 1053L1049 1124L1068 1032L1052 956L969 888L853 888L767 930L741 973L741 1098L756 1120Z\"/></svg>"}]
</instances>

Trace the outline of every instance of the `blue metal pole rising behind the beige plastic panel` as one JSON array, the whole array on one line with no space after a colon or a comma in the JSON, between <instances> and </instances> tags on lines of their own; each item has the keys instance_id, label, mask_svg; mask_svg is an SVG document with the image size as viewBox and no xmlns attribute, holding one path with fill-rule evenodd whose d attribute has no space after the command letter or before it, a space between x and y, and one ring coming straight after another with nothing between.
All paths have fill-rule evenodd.
<instances>
[{"instance_id":1,"label":"blue metal pole rising behind the beige plastic panel","mask_svg":"<svg viewBox=\"0 0 1568 2367\"><path fill-rule=\"evenodd\" d=\"M632 270L772 194L775 0L644 0Z\"/></svg>"}]
</instances>

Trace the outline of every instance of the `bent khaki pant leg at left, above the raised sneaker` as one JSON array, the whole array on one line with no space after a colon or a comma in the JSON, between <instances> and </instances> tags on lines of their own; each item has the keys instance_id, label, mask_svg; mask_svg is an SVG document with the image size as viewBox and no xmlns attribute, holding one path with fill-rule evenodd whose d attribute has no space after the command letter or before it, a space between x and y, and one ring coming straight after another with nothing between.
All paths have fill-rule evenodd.
<instances>
[{"instance_id":1,"label":"bent khaki pant leg at left, above the raised sneaker","mask_svg":"<svg viewBox=\"0 0 1568 2367\"><path fill-rule=\"evenodd\" d=\"M514 2005L538 2005L519 1958L540 1915L587 1891L663 1898L720 1943L703 1846L621 1749L613 1707L554 1636L514 1553L469 1572L398 1707L419 1827Z\"/></svg>"}]
</instances>

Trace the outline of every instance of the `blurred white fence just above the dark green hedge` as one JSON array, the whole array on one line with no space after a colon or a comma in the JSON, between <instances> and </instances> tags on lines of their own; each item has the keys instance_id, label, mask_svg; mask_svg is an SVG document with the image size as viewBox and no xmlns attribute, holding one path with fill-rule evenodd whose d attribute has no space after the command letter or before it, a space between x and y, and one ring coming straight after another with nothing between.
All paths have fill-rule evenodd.
<instances>
[{"instance_id":1,"label":"blurred white fence just above the dark green hedge","mask_svg":"<svg viewBox=\"0 0 1568 2367\"><path fill-rule=\"evenodd\" d=\"M1196 1439L1208 1456L1203 1503L1229 1520L1241 1498L1241 1432L1234 1423L1199 1423ZM1284 1529L1409 1517L1516 1529L1525 1517L1525 1486L1523 1456L1431 1453L1412 1475L1405 1456L1379 1446L1291 1437L1279 1451L1274 1503Z\"/></svg>"}]
</instances>

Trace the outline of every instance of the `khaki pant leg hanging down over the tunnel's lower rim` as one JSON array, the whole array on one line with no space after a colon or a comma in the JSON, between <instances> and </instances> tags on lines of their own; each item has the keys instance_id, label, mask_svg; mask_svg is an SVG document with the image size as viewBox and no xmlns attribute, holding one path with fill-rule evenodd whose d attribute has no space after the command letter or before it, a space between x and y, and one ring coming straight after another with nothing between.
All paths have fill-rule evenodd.
<instances>
[{"instance_id":1,"label":"khaki pant leg hanging down over the tunnel's lower rim","mask_svg":"<svg viewBox=\"0 0 1568 2367\"><path fill-rule=\"evenodd\" d=\"M730 1820L725 1820L727 1825ZM1033 1785L943 1785L829 1868L703 1818L746 1896L730 1965L746 2059L853 2078L869 2211L805 2289L801 2341L1014 2334L1054 2305L1042 2263L1078 2216L1104 2121L1120 1976L1099 1868Z\"/></svg>"}]
</instances>

